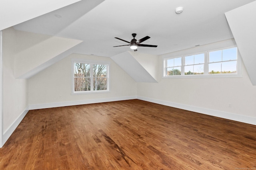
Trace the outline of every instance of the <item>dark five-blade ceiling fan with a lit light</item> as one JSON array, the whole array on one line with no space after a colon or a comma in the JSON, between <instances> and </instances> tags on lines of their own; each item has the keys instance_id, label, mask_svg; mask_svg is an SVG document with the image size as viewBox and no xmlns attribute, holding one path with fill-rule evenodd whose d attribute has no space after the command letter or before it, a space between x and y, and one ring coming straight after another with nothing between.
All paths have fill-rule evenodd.
<instances>
[{"instance_id":1,"label":"dark five-blade ceiling fan with a lit light","mask_svg":"<svg viewBox=\"0 0 256 170\"><path fill-rule=\"evenodd\" d=\"M124 42L126 42L126 43L129 43L130 48L133 49L134 51L137 51L138 46L140 46L140 47L157 47L157 45L140 44L140 43L142 43L143 41L146 41L147 39L149 39L150 37L146 36L146 37L144 37L144 38L142 38L142 39L137 40L137 39L135 39L136 35L137 35L136 33L132 33L133 39L131 40L131 42L125 41L125 40L120 39L120 38L118 38L118 37L115 37L115 38L116 38L116 39L119 39L119 40L121 40L121 41L124 41ZM127 45L118 45L118 46L114 46L114 47L121 47L121 46L127 46Z\"/></svg>"}]
</instances>

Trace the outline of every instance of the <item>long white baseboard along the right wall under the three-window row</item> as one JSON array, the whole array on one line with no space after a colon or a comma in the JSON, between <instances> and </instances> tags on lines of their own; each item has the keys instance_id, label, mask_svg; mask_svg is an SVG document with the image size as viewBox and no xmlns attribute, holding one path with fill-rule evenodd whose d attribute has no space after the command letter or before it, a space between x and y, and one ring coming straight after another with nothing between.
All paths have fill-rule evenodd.
<instances>
[{"instance_id":1,"label":"long white baseboard along the right wall under the three-window row","mask_svg":"<svg viewBox=\"0 0 256 170\"><path fill-rule=\"evenodd\" d=\"M202 113L202 114L206 114L206 115L221 117L224 119L229 119L229 120L234 120L234 121L239 121L239 122L243 122L243 123L256 125L256 117L249 117L249 116L238 115L238 114L234 114L234 113L228 113L228 112L224 112L224 111L206 109L206 108L195 107L195 106L188 106L188 105L184 105L184 104L167 102L167 101L163 101L163 100L146 98L146 97L142 97L142 96L137 96L137 99L144 100L147 102L156 103L156 104L161 104L161 105L165 105L165 106L176 107L176 108L184 109L184 110L188 110L188 111L194 111L194 112Z\"/></svg>"}]
</instances>

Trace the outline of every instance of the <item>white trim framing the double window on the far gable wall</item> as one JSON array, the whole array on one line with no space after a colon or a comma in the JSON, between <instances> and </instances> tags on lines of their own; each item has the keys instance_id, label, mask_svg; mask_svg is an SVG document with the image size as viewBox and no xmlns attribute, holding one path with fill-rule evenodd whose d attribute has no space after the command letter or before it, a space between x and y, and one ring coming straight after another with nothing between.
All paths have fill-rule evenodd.
<instances>
[{"instance_id":1,"label":"white trim framing the double window on the far gable wall","mask_svg":"<svg viewBox=\"0 0 256 170\"><path fill-rule=\"evenodd\" d=\"M91 90L91 91L74 91L74 63L86 63L86 64L104 64L107 65L107 90ZM91 69L92 71L92 69ZM97 93L109 93L110 92L110 62L98 61L98 60L85 60L85 59L71 59L71 94L97 94ZM92 75L93 73L90 73ZM93 88L92 88L93 89Z\"/></svg>"}]
</instances>

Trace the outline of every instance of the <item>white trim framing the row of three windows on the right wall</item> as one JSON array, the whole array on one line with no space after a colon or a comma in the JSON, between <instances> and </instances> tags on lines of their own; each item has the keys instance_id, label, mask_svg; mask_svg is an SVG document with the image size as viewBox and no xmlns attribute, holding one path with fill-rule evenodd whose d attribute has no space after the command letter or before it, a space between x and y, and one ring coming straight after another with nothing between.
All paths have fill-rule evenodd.
<instances>
[{"instance_id":1,"label":"white trim framing the row of three windows on the right wall","mask_svg":"<svg viewBox=\"0 0 256 170\"><path fill-rule=\"evenodd\" d=\"M168 57L165 56L163 57L163 75L162 78L232 78L232 77L242 77L242 57L239 53L239 50L237 49L237 72L236 73L221 73L221 74L208 74L208 60L209 60L209 53L212 51L218 51L218 50L224 50L224 49L230 49L230 48L234 48L237 46L233 45L233 46L229 46L229 47L224 47L224 48L218 48L218 49L213 49L213 50L209 50L209 51L202 51L202 52L198 52L198 53L190 53L190 54L186 54L186 55L179 55L176 57ZM192 74L192 75L184 75L184 58L186 56L190 56L190 55L196 55L196 54L202 54L204 53L204 73L207 74ZM182 67L181 67L181 75L175 75L175 76L166 76L166 61L168 59L174 59L174 58L180 58L181 57L181 62L182 62Z\"/></svg>"}]
</instances>

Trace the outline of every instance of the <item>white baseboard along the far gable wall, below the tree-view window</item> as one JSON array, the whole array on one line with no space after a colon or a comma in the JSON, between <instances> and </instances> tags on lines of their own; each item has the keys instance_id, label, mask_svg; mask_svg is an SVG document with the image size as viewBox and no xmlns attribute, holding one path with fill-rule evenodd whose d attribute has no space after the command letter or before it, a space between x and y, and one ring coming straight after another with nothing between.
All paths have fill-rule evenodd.
<instances>
[{"instance_id":1,"label":"white baseboard along the far gable wall, below the tree-view window","mask_svg":"<svg viewBox=\"0 0 256 170\"><path fill-rule=\"evenodd\" d=\"M116 98L103 98L103 99L92 99L92 100L78 100L78 101L70 101L70 102L35 104L35 105L30 105L29 109L30 110L45 109L45 108L52 108L52 107L75 106L75 105L82 105L82 104L114 102L114 101L131 100L131 99L136 99L136 96L125 96L125 97L116 97Z\"/></svg>"}]
</instances>

